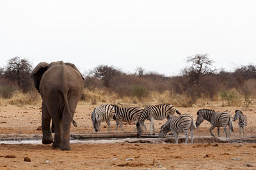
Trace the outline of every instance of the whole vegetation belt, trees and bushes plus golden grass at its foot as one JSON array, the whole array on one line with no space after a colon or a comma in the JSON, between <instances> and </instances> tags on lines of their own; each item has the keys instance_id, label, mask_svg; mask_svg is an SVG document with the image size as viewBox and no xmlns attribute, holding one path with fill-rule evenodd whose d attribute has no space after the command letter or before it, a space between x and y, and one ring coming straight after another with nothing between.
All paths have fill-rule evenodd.
<instances>
[{"instance_id":1,"label":"whole vegetation belt, trees and bushes plus golden grass at its foot","mask_svg":"<svg viewBox=\"0 0 256 170\"><path fill-rule=\"evenodd\" d=\"M81 102L124 103L145 106L172 103L175 106L204 106L208 101L222 101L222 106L248 107L256 97L256 66L239 66L234 71L216 70L207 54L187 58L188 66L177 76L147 72L138 67L124 73L118 67L100 65L84 74ZM29 60L13 57L0 67L0 106L41 103L29 77Z\"/></svg>"}]
</instances>

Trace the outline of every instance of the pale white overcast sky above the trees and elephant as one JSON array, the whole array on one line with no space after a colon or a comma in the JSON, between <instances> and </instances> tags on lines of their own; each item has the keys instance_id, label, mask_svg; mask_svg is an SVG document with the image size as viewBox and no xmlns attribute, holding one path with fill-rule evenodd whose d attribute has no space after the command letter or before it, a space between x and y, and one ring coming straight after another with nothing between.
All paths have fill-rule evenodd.
<instances>
[{"instance_id":1,"label":"pale white overcast sky above the trees and elephant","mask_svg":"<svg viewBox=\"0 0 256 170\"><path fill-rule=\"evenodd\" d=\"M216 69L256 64L256 1L0 1L0 67L19 56L166 76L208 53Z\"/></svg>"}]
</instances>

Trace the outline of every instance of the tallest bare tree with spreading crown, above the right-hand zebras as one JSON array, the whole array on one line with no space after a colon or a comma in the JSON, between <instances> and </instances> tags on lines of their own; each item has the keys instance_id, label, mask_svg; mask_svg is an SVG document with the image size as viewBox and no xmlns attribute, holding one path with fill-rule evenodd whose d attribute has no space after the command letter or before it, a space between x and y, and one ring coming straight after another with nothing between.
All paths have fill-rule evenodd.
<instances>
[{"instance_id":1,"label":"tallest bare tree with spreading crown, above the right-hand zebras","mask_svg":"<svg viewBox=\"0 0 256 170\"><path fill-rule=\"evenodd\" d=\"M213 61L209 59L209 55L205 54L196 54L189 56L187 62L191 63L189 67L186 67L182 70L184 76L188 76L191 83L198 85L199 80L207 74L215 72L215 69L212 69Z\"/></svg>"}]
</instances>

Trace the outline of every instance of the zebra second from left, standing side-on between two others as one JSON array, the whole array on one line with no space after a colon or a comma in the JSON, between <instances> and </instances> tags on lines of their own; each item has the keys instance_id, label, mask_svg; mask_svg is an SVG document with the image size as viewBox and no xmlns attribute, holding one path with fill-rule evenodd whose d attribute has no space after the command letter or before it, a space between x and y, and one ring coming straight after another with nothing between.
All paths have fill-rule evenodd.
<instances>
[{"instance_id":1,"label":"zebra second from left, standing side-on between two others","mask_svg":"<svg viewBox=\"0 0 256 170\"><path fill-rule=\"evenodd\" d=\"M118 124L120 124L120 128L122 131L123 129L123 122L132 123L132 122L138 122L140 118L141 111L143 111L143 108L139 107L118 107L116 105L112 105L115 109L116 115L114 115L113 119L116 121L116 131L118 130ZM145 130L147 130L146 125L144 125ZM136 127L134 129L136 131Z\"/></svg>"}]
</instances>

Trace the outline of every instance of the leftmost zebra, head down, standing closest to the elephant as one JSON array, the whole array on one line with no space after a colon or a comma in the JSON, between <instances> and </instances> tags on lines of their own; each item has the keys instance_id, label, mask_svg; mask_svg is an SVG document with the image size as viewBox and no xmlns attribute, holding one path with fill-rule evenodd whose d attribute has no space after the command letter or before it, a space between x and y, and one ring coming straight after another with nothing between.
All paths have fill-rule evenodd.
<instances>
[{"instance_id":1,"label":"leftmost zebra, head down, standing closest to the elephant","mask_svg":"<svg viewBox=\"0 0 256 170\"><path fill-rule=\"evenodd\" d=\"M102 104L92 111L91 119L93 124L93 131L100 131L100 125L102 122L108 124L108 132L111 131L111 118L115 115L115 110L111 104Z\"/></svg>"}]
</instances>

